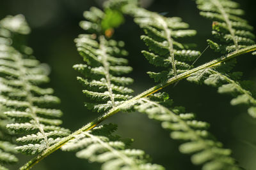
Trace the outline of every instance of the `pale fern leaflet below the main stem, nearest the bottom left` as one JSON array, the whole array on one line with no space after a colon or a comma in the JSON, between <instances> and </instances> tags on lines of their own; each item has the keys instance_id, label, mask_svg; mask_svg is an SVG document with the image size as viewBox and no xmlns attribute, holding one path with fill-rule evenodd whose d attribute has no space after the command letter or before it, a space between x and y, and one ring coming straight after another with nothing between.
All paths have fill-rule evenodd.
<instances>
[{"instance_id":1,"label":"pale fern leaflet below the main stem, nearest the bottom left","mask_svg":"<svg viewBox=\"0 0 256 170\"><path fill-rule=\"evenodd\" d=\"M129 149L132 140L122 140L113 135L115 124L101 125L92 131L82 132L61 147L65 151L78 151L76 156L99 162L102 169L164 169L157 164L148 163L148 155L142 150Z\"/></svg>"}]
</instances>

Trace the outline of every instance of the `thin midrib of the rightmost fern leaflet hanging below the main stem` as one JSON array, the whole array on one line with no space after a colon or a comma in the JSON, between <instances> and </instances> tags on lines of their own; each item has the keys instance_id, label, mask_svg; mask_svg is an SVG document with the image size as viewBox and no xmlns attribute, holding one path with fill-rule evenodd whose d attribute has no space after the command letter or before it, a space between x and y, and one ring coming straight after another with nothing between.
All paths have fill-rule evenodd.
<instances>
[{"instance_id":1,"label":"thin midrib of the rightmost fern leaflet hanging below the main stem","mask_svg":"<svg viewBox=\"0 0 256 170\"><path fill-rule=\"evenodd\" d=\"M250 99L251 103L256 104L256 99L254 99L252 97L252 94L248 90L244 90L241 87L241 85L239 85L239 83L237 83L236 81L228 78L228 76L225 76L224 74L218 73L218 71L214 71L213 69L208 69L208 70L211 71L211 73L213 73L213 74L218 74L219 76L224 78L228 83L232 83L233 85L235 85L236 89L239 90L239 92L241 92L241 94L245 94Z\"/></svg>"}]
</instances>

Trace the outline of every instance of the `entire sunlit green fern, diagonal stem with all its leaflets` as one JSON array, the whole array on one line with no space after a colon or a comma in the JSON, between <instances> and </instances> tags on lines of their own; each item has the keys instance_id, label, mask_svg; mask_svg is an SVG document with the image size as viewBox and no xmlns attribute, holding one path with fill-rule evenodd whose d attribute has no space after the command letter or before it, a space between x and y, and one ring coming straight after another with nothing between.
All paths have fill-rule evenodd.
<instances>
[{"instance_id":1,"label":"entire sunlit green fern, diagonal stem with all its leaflets","mask_svg":"<svg viewBox=\"0 0 256 170\"><path fill-rule=\"evenodd\" d=\"M173 101L166 92L158 91L168 85L188 80L198 84L218 87L218 92L232 94L232 105L246 104L248 113L256 117L256 100L250 92L250 83L240 81L241 73L231 73L236 57L256 50L252 27L239 15L239 4L229 0L196 1L200 14L213 20L212 34L216 40L207 39L214 50L216 59L201 66L194 66L202 55L194 50L194 44L183 43L180 39L195 36L196 31L178 17L164 17L158 13L138 6L137 1L110 0L104 5L104 11L91 8L84 12L86 21L80 26L86 30L75 39L77 50L84 64L74 69L83 77L77 77L83 86L83 93L90 98L86 107L103 115L69 134L67 129L58 127L61 111L44 109L49 104L58 103L52 89L41 89L37 85L48 81L47 67L40 65L31 56L31 48L15 43L15 36L27 34L28 25L20 15L7 17L0 22L1 27L1 123L7 124L3 139L8 146L13 138L24 143L16 150L26 154L36 154L20 169L29 169L47 155L61 148L76 151L77 157L91 162L102 163L102 169L164 169L163 166L150 164L150 159L142 150L131 149L131 139L122 139L113 134L116 125L108 124L96 127L119 111L139 111L148 118L158 120L164 129L170 130L170 137L182 141L179 150L191 154L193 164L202 165L202 169L242 169L231 151L207 131L209 124L195 119L193 113L187 113L183 107L172 106ZM148 72L159 84L132 96L132 89L126 86L131 78L122 76L132 71L127 66L128 55L123 41L112 39L124 15L134 18L146 35L141 39L149 51L143 51L146 59L154 66L163 68L160 73ZM14 21L13 21L14 20ZM13 43L10 41L12 40ZM182 43L180 43L180 42ZM215 42L216 41L216 42ZM255 54L255 52L253 53ZM39 108L40 107L40 108ZM16 123L13 123L15 121ZM8 123L6 123L8 122ZM7 135L8 134L8 135ZM18 134L18 135L17 135ZM10 145L13 148L13 145ZM3 148L4 152L14 152ZM15 153L15 152L14 152ZM9 153L4 153L9 154ZM4 156L3 156L4 157ZM1 158L0 158L1 159ZM16 162L7 160L2 162Z\"/></svg>"}]
</instances>

